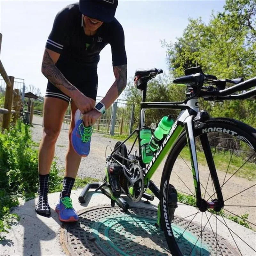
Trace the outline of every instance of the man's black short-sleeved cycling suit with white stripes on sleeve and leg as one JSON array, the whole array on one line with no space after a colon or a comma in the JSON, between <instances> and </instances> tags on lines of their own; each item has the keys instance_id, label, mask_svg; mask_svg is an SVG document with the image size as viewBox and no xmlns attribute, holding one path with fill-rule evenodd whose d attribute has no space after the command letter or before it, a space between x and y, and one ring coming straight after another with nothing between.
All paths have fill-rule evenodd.
<instances>
[{"instance_id":1,"label":"man's black short-sleeved cycling suit with white stripes on sleeve and leg","mask_svg":"<svg viewBox=\"0 0 256 256\"><path fill-rule=\"evenodd\" d=\"M127 64L124 47L124 30L114 19L103 23L93 36L84 33L84 22L78 3L70 4L55 17L46 48L60 53L56 67L65 78L85 96L96 99L98 87L97 65L100 51L111 45L112 64ZM45 97L54 97L69 102L70 97L48 81Z\"/></svg>"}]
</instances>

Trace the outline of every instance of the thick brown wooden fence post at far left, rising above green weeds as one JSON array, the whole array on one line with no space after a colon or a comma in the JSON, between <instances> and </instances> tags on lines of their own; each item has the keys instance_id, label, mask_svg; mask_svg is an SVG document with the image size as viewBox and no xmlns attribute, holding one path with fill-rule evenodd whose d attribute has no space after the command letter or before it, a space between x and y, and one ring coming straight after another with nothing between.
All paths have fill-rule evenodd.
<instances>
[{"instance_id":1,"label":"thick brown wooden fence post at far left, rising above green weeds","mask_svg":"<svg viewBox=\"0 0 256 256\"><path fill-rule=\"evenodd\" d=\"M10 87L6 86L5 99L4 99L4 108L7 108L9 110L9 113L4 114L3 116L3 129L9 129L10 119L11 119L14 76L9 76L9 79L11 81L11 86Z\"/></svg>"}]
</instances>

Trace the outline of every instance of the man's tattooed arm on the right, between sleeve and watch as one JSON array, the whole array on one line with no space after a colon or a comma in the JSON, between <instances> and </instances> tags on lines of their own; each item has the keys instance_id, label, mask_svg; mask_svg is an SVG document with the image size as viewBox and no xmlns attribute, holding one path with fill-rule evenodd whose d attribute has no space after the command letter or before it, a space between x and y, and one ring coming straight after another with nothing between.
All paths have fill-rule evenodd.
<instances>
[{"instance_id":1,"label":"man's tattooed arm on the right, between sleeve and watch","mask_svg":"<svg viewBox=\"0 0 256 256\"><path fill-rule=\"evenodd\" d=\"M106 96L101 101L104 103L106 109L118 98L123 92L127 82L127 65L113 67L116 80L108 90Z\"/></svg>"}]
</instances>

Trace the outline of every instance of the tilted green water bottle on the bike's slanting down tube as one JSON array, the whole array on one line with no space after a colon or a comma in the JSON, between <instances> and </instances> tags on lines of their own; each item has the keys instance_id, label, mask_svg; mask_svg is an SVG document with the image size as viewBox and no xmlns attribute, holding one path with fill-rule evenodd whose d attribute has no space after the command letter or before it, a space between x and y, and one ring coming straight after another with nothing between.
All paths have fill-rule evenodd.
<instances>
[{"instance_id":1,"label":"tilted green water bottle on the bike's slanting down tube","mask_svg":"<svg viewBox=\"0 0 256 256\"><path fill-rule=\"evenodd\" d=\"M156 152L159 146L161 146L164 135L170 132L173 124L174 120L172 119L171 115L164 116L161 119L149 142L149 148L152 150L152 152Z\"/></svg>"}]
</instances>

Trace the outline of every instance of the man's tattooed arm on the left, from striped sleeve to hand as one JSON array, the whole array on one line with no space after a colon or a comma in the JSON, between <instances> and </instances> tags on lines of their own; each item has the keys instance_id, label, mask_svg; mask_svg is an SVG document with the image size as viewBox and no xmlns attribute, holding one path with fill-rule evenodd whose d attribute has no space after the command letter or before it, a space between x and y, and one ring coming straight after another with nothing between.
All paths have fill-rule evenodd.
<instances>
[{"instance_id":1,"label":"man's tattooed arm on the left, from striped sleeve to hand","mask_svg":"<svg viewBox=\"0 0 256 256\"><path fill-rule=\"evenodd\" d=\"M77 108L79 108L82 113L87 113L94 108L95 101L86 97L82 92L76 89L74 85L68 82L65 76L55 66L55 63L59 57L59 53L45 49L42 63L42 73L52 84L60 89L60 91L72 98Z\"/></svg>"}]
</instances>

